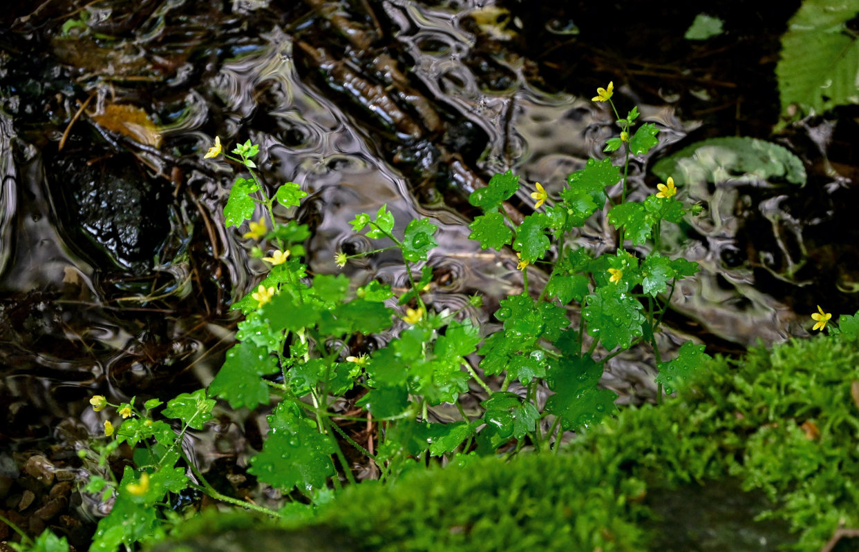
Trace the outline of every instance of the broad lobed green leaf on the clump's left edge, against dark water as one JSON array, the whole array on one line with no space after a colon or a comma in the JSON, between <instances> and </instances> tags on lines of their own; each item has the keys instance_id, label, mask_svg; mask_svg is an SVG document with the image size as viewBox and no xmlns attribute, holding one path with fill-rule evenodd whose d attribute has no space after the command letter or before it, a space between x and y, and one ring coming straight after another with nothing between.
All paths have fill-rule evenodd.
<instances>
[{"instance_id":1,"label":"broad lobed green leaf on the clump's left edge, against dark water","mask_svg":"<svg viewBox=\"0 0 859 552\"><path fill-rule=\"evenodd\" d=\"M277 359L253 343L243 342L227 351L227 359L209 385L212 395L234 408L267 405L269 388L260 376L277 372Z\"/></svg>"}]
</instances>

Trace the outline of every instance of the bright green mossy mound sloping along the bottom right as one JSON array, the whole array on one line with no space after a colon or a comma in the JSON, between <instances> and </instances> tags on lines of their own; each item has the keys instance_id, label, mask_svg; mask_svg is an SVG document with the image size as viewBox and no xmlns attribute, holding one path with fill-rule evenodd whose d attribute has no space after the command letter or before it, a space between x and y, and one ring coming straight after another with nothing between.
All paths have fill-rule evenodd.
<instances>
[{"instance_id":1,"label":"bright green mossy mound sloping along the bottom right","mask_svg":"<svg viewBox=\"0 0 859 552\"><path fill-rule=\"evenodd\" d=\"M341 536L351 552L772 549L760 546L759 535L817 552L839 526L859 528L853 381L859 381L859 349L836 338L751 351L741 363L716 359L679 397L624 410L560 454L416 466L392 484L346 489L316 518L291 524L279 538L287 546L293 536L298 543L314 532ZM738 482L757 495L738 500ZM688 519L661 525L652 519L654 510L666 512L661 501L674 487L682 489L674 495L680 499L675 512L684 511L686 499L704 501L698 506L707 509L707 501L718 500L707 498L715 496L711 491L723 488L722 496L747 505L731 522L739 518L746 527L728 525L725 542L689 548L679 539ZM765 515L780 522L752 521L762 514L764 494L775 505ZM741 532L752 535L753 546L738 544ZM190 549L220 550L217 531L208 536L214 544L197 543L198 536L201 548ZM259 550L253 538L233 541ZM340 548L332 539L314 549Z\"/></svg>"}]
</instances>

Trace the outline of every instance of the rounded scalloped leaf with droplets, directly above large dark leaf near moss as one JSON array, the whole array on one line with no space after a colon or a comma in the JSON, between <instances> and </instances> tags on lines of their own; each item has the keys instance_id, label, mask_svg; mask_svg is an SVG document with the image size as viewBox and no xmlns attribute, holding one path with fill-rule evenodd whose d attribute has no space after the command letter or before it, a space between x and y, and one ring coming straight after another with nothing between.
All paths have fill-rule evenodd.
<instances>
[{"instance_id":1,"label":"rounded scalloped leaf with droplets, directly above large dark leaf near moss","mask_svg":"<svg viewBox=\"0 0 859 552\"><path fill-rule=\"evenodd\" d=\"M582 311L588 322L588 335L600 339L607 351L618 345L626 349L643 331L642 304L617 288L611 284L597 288L588 296L588 304Z\"/></svg>"}]
</instances>

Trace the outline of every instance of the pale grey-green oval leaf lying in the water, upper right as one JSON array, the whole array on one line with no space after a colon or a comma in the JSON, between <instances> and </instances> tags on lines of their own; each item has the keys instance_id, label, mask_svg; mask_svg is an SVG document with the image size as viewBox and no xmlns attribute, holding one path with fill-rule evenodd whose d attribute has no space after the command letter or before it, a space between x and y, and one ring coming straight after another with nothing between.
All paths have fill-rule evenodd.
<instances>
[{"instance_id":1,"label":"pale grey-green oval leaf lying in the water, upper right","mask_svg":"<svg viewBox=\"0 0 859 552\"><path fill-rule=\"evenodd\" d=\"M782 180L805 184L802 160L788 149L757 138L734 136L710 138L684 147L653 166L653 172L665 182L673 177L677 187L695 185L709 195L706 184L756 183L760 180Z\"/></svg>"}]
</instances>

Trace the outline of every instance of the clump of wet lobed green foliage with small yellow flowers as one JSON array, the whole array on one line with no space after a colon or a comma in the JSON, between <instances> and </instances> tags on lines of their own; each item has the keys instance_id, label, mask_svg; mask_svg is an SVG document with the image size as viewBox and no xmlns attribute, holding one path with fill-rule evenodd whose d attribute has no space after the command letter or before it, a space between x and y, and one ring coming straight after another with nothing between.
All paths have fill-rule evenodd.
<instances>
[{"instance_id":1,"label":"clump of wet lobed green foliage with small yellow flowers","mask_svg":"<svg viewBox=\"0 0 859 552\"><path fill-rule=\"evenodd\" d=\"M613 86L598 91L594 101L612 103ZM510 171L497 174L470 201L483 214L472 225L471 237L483 249L512 248L519 257L524 289L504 299L495 313L499 331L481 334L465 311L435 312L423 300L432 271L425 263L436 246L436 225L415 219L405 226L382 206L361 213L353 230L376 240L378 249L398 249L411 281L399 297L387 285L372 281L354 287L343 275L310 274L302 262L308 227L283 221L275 207L298 206L305 191L285 183L270 193L256 174L253 158L259 147L250 141L226 155L247 171L230 189L224 219L228 227L247 222L246 238L256 243L255 256L270 267L268 275L234 305L245 320L239 323L238 343L227 353L222 369L207 389L183 393L162 404L142 407L132 399L110 405L123 422L106 422L110 439L92 454L102 464L121 443L134 447L135 467L121 479L95 477L90 492L114 500L113 511L101 519L94 550L115 550L157 537L170 513L155 507L168 493L191 488L242 507L279 516L295 514L302 502L327 500L354 476L341 447L353 447L381 471L381 481L393 481L430 458L473 461L478 455L515 453L522 447L557 450L564 430L594 427L617 411L617 395L599 387L606 361L633 345L653 346L660 388L670 392L706 357L703 345L687 343L679 357L663 362L655 332L661 324L674 285L696 271L696 264L660 253L664 224L679 222L686 213L672 178L642 203L626 201L629 161L658 141L653 123L637 125L638 111L618 115L618 137L606 152L620 150L621 168L612 159L588 160L567 178L557 198L537 184L534 212L520 224L509 219L504 203L520 189ZM222 155L216 139L206 158ZM258 212L264 213L254 219ZM573 247L571 237L588 219L606 213L618 229L617 251L594 257ZM404 221L405 222L405 221ZM357 255L352 255L357 256ZM350 255L338 253L344 266ZM529 288L528 275L540 263L549 273L542 290ZM478 305L479 297L472 304ZM581 312L574 326L570 307ZM360 335L394 329L395 337L375 351L352 351L346 345ZM468 357L481 357L477 366ZM511 390L524 389L523 393ZM545 407L537 389L553 392ZM460 397L482 390L477 415L466 415ZM342 423L356 421L334 405L347 393L358 395L365 414L359 421L379 424L375 450L354 441ZM250 459L248 471L259 481L284 493L304 496L282 512L218 493L194 468L181 447L188 429L202 429L216 399L233 409L274 407L262 450ZM94 407L107 399L94 398ZM430 407L453 404L460 420L430 422ZM167 420L178 420L177 433ZM544 423L545 421L545 423ZM375 444L375 443L374 443ZM353 452L355 453L355 452ZM297 509L296 509L297 508Z\"/></svg>"}]
</instances>

